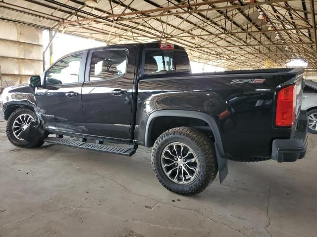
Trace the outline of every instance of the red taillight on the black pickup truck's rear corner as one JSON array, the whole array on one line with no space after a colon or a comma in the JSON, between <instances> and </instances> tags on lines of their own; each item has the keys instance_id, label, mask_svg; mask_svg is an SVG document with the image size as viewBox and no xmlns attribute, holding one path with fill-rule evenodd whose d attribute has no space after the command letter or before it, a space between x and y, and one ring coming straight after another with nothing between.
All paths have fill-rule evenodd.
<instances>
[{"instance_id":1,"label":"red taillight on the black pickup truck's rear corner","mask_svg":"<svg viewBox=\"0 0 317 237\"><path fill-rule=\"evenodd\" d=\"M276 126L289 127L295 122L296 86L290 85L281 89L277 96Z\"/></svg>"}]
</instances>

